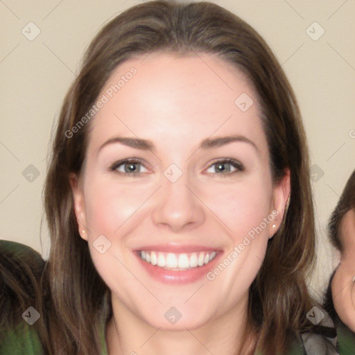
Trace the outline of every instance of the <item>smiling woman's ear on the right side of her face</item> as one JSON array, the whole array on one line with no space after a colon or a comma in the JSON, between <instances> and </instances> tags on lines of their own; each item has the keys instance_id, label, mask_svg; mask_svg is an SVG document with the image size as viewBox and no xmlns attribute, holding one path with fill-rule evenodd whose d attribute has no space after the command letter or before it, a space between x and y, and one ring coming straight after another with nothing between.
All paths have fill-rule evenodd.
<instances>
[{"instance_id":1,"label":"smiling woman's ear on the right side of her face","mask_svg":"<svg viewBox=\"0 0 355 355\"><path fill-rule=\"evenodd\" d=\"M290 169L285 169L285 174L282 180L275 185L272 192L272 206L270 214L275 216L268 224L269 229L269 239L274 236L274 234L279 230L279 227L282 223L282 218L284 218L284 213L286 210L286 205L288 203L288 198L291 193L291 178L290 178Z\"/></svg>"}]
</instances>

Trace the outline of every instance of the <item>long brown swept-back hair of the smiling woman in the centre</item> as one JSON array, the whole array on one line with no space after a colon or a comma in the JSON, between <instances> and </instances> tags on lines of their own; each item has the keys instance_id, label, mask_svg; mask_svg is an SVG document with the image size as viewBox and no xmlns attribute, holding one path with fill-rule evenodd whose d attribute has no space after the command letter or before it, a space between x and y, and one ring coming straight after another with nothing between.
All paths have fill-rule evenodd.
<instances>
[{"instance_id":1,"label":"long brown swept-back hair of the smiling woman in the centre","mask_svg":"<svg viewBox=\"0 0 355 355\"><path fill-rule=\"evenodd\" d=\"M293 89L266 42L245 21L208 1L150 1L133 6L106 24L85 53L62 105L44 189L51 234L44 280L53 302L44 311L51 327L50 336L43 333L44 343L51 354L100 352L100 322L112 316L110 290L94 268L87 242L78 234L69 184L70 173L80 174L89 124L70 139L65 132L96 101L114 68L153 51L216 54L243 71L261 105L275 184L290 168L288 208L282 226L268 242L249 302L249 321L259 331L263 353L282 353L290 337L305 329L306 313L313 306L305 282L315 259L306 137Z\"/></svg>"}]
</instances>

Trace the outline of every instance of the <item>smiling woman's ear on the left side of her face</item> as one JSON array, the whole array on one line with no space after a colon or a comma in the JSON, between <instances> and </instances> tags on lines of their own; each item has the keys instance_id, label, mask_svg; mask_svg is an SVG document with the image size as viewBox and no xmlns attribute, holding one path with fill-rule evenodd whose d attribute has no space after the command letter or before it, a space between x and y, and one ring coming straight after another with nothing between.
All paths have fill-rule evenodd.
<instances>
[{"instance_id":1,"label":"smiling woman's ear on the left side of her face","mask_svg":"<svg viewBox=\"0 0 355 355\"><path fill-rule=\"evenodd\" d=\"M69 182L71 186L71 191L73 192L74 200L74 211L76 215L76 221L78 222L79 234L81 238L87 241L87 223L85 214L85 198L83 187L80 184L78 175L75 173L69 174Z\"/></svg>"}]
</instances>

